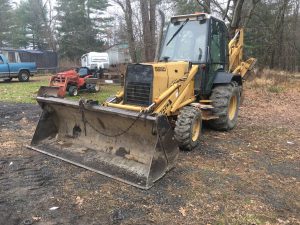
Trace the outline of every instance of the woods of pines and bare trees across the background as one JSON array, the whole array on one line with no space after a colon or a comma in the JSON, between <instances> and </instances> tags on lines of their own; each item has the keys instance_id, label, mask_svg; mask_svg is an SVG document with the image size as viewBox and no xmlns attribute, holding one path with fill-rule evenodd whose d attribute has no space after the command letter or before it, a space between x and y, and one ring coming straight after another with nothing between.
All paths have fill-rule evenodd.
<instances>
[{"instance_id":1,"label":"woods of pines and bare trees across the background","mask_svg":"<svg viewBox=\"0 0 300 225\"><path fill-rule=\"evenodd\" d=\"M246 28L245 54L260 67L299 71L299 5L299 0L0 0L0 48L53 50L75 61L127 43L133 62L152 61L161 19L207 12L224 19L231 34Z\"/></svg>"}]
</instances>

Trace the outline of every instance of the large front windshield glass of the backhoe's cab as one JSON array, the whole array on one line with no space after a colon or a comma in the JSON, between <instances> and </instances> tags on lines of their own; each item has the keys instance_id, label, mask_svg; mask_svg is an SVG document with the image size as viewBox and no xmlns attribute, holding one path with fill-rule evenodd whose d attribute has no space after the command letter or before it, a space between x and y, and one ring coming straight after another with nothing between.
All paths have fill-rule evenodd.
<instances>
[{"instance_id":1,"label":"large front windshield glass of the backhoe's cab","mask_svg":"<svg viewBox=\"0 0 300 225\"><path fill-rule=\"evenodd\" d=\"M197 20L188 21L172 39L183 23L184 21L169 25L160 60L167 57L169 61L205 62L207 23L200 24Z\"/></svg>"}]
</instances>

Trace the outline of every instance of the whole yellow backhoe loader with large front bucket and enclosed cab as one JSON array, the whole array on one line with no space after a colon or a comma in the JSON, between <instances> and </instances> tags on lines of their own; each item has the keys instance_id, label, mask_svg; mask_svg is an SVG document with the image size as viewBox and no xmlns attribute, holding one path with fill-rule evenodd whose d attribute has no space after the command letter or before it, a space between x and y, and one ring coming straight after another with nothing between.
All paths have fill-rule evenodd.
<instances>
[{"instance_id":1,"label":"whole yellow backhoe loader with large front bucket and enclosed cab","mask_svg":"<svg viewBox=\"0 0 300 225\"><path fill-rule=\"evenodd\" d=\"M40 95L43 109L29 148L148 189L174 167L179 148L199 145L202 121L237 123L243 29L228 41L225 23L198 13L174 16L157 62L130 64L123 91L101 105Z\"/></svg>"}]
</instances>

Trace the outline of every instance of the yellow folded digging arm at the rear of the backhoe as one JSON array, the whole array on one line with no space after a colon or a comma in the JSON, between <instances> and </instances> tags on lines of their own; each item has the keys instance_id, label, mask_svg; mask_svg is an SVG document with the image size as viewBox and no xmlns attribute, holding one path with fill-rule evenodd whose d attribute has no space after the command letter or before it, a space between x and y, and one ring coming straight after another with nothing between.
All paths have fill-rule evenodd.
<instances>
[{"instance_id":1,"label":"yellow folded digging arm at the rear of the backhoe","mask_svg":"<svg viewBox=\"0 0 300 225\"><path fill-rule=\"evenodd\" d=\"M246 73L253 69L256 59L249 58L243 61L244 50L244 29L236 30L234 37L228 44L229 48L229 72L233 74L240 74L244 77Z\"/></svg>"}]
</instances>

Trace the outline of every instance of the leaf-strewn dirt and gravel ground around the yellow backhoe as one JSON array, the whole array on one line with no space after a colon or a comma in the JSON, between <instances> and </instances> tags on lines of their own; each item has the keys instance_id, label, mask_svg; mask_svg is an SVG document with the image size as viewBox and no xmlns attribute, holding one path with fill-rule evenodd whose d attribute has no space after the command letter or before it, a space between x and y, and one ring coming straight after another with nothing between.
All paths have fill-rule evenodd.
<instances>
[{"instance_id":1,"label":"leaf-strewn dirt and gravel ground around the yellow backhoe","mask_svg":"<svg viewBox=\"0 0 300 225\"><path fill-rule=\"evenodd\" d=\"M26 149L39 107L0 102L0 224L300 224L299 84L246 89L236 129L148 191Z\"/></svg>"}]
</instances>

